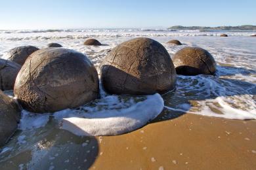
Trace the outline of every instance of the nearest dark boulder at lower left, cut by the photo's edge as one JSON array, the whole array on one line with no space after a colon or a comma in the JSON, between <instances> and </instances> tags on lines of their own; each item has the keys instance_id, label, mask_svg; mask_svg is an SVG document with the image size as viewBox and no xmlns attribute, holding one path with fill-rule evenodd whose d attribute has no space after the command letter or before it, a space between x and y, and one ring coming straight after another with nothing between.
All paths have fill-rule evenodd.
<instances>
[{"instance_id":1,"label":"nearest dark boulder at lower left, cut by the photo's edge","mask_svg":"<svg viewBox=\"0 0 256 170\"><path fill-rule=\"evenodd\" d=\"M20 121L20 109L11 97L0 90L0 146L3 146L16 130Z\"/></svg>"}]
</instances>

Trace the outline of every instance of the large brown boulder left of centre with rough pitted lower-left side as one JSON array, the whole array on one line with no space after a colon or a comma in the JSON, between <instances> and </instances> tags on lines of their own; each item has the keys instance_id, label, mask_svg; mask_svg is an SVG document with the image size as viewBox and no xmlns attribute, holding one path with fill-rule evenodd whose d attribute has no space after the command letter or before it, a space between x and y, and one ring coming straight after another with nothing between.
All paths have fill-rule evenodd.
<instances>
[{"instance_id":1,"label":"large brown boulder left of centre with rough pitted lower-left side","mask_svg":"<svg viewBox=\"0 0 256 170\"><path fill-rule=\"evenodd\" d=\"M43 48L26 60L14 95L31 112L75 108L98 97L98 73L91 61L65 48Z\"/></svg>"}]
</instances>

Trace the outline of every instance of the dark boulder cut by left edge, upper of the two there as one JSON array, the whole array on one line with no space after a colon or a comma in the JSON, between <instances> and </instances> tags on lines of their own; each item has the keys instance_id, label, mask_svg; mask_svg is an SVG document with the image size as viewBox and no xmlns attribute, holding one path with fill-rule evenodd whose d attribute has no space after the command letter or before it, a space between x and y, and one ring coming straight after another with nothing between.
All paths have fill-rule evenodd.
<instances>
[{"instance_id":1,"label":"dark boulder cut by left edge, upper of the two there","mask_svg":"<svg viewBox=\"0 0 256 170\"><path fill-rule=\"evenodd\" d=\"M21 66L14 61L0 58L0 89L13 90Z\"/></svg>"}]
</instances>

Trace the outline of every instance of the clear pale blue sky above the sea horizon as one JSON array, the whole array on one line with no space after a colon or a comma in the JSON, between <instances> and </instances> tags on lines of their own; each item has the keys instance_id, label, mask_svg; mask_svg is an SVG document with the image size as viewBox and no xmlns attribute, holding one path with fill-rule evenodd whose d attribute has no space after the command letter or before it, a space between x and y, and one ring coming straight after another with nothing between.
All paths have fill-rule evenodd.
<instances>
[{"instance_id":1,"label":"clear pale blue sky above the sea horizon","mask_svg":"<svg viewBox=\"0 0 256 170\"><path fill-rule=\"evenodd\" d=\"M0 29L256 25L256 1L1 0Z\"/></svg>"}]
</instances>

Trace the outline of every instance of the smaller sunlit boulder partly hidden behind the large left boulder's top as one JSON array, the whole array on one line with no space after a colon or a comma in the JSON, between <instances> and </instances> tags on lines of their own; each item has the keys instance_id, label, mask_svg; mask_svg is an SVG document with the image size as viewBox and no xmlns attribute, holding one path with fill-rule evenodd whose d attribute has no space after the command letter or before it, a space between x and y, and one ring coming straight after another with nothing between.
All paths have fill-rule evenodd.
<instances>
[{"instance_id":1,"label":"smaller sunlit boulder partly hidden behind the large left boulder's top","mask_svg":"<svg viewBox=\"0 0 256 170\"><path fill-rule=\"evenodd\" d=\"M7 54L8 60L23 65L28 56L37 50L39 50L39 48L35 46L18 46L16 48L12 48Z\"/></svg>"}]
</instances>

